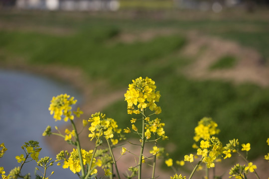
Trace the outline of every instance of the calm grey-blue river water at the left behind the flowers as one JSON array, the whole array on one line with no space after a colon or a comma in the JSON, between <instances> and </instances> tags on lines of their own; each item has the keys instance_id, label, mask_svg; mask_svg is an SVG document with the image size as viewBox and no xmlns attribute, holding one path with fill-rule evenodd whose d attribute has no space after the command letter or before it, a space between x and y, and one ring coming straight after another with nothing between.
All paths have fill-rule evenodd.
<instances>
[{"instance_id":1,"label":"calm grey-blue river water at the left behind the flowers","mask_svg":"<svg viewBox=\"0 0 269 179\"><path fill-rule=\"evenodd\" d=\"M6 175L20 165L15 156L24 154L20 147L29 140L39 142L42 148L39 159L49 156L55 160L56 156L45 144L42 133L47 125L53 127L64 123L55 122L48 111L52 96L61 93L74 96L78 102L82 100L80 94L66 84L32 74L0 70L0 144L4 143L7 148L0 158L0 167L4 167ZM31 173L31 177L35 178L35 167L34 161L25 164L22 174ZM52 171L54 174L50 179L77 178L69 169L62 169L56 163L48 169L49 174Z\"/></svg>"}]
</instances>

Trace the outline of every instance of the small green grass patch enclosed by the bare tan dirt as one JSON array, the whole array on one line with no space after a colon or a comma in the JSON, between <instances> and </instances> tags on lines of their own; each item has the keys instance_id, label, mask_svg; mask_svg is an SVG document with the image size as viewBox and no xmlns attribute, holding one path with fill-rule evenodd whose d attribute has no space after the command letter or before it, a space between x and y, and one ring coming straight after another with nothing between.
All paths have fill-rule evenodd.
<instances>
[{"instance_id":1,"label":"small green grass patch enclosed by the bare tan dirt","mask_svg":"<svg viewBox=\"0 0 269 179\"><path fill-rule=\"evenodd\" d=\"M226 55L217 60L214 64L212 64L209 69L229 69L235 66L236 58L232 55Z\"/></svg>"}]
</instances>

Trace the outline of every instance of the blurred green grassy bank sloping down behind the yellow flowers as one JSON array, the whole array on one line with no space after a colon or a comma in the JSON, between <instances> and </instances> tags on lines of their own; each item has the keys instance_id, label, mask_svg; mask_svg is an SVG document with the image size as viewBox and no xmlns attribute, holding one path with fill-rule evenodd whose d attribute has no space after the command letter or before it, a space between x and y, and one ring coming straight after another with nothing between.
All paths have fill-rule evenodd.
<instances>
[{"instance_id":1,"label":"blurred green grassy bank sloping down behind the yellow flowers","mask_svg":"<svg viewBox=\"0 0 269 179\"><path fill-rule=\"evenodd\" d=\"M69 17L69 18L67 18ZM71 17L71 18L70 18ZM132 79L139 76L152 78L161 92L159 105L163 112L160 118L166 123L165 130L169 142L179 143L173 155L183 156L190 152L194 127L203 116L213 117L219 124L219 137L224 143L239 138L242 143L250 142L252 156L266 154L268 136L269 91L253 85L233 86L218 81L187 80L178 71L187 64L187 59L178 52L185 39L180 35L154 38L147 42L132 44L108 43L122 30L148 28L179 28L185 30L201 29L206 33L228 36L234 27L255 26L258 32L266 32L268 24L249 20L152 20L152 19L107 19L83 14L76 16L3 15L2 21L27 21L33 25L66 27L75 30L67 36L49 35L38 32L0 31L1 58L12 54L30 63L62 64L77 66L93 79L107 79L112 88L127 88ZM27 20L26 20L27 19ZM225 31L223 29L226 27ZM228 31L227 31L228 29ZM229 31L229 29L231 31ZM262 29L262 30L261 30ZM238 30L239 31L239 30ZM237 32L238 32L237 31ZM244 35L244 34L243 34ZM248 38L250 37L250 38ZM265 38L268 38L265 36ZM252 36L236 36L241 43L250 43ZM241 39L241 40L240 40ZM263 52L260 46L269 41L252 44ZM265 53L266 55L266 53ZM268 56L267 56L268 57ZM126 102L119 101L104 110L108 116L119 121L122 128L130 125L131 116L126 114ZM259 140L257 140L259 139Z\"/></svg>"}]
</instances>

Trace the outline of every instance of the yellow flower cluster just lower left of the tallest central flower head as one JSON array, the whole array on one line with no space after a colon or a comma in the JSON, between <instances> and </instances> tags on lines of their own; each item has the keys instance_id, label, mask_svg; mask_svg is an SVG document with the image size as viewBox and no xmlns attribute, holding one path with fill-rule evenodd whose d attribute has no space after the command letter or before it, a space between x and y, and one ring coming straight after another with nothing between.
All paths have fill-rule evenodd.
<instances>
[{"instance_id":1,"label":"yellow flower cluster just lower left of the tallest central flower head","mask_svg":"<svg viewBox=\"0 0 269 179\"><path fill-rule=\"evenodd\" d=\"M121 134L122 129L118 128L117 122L112 118L106 118L106 114L97 112L92 114L92 117L89 118L88 122L91 123L89 127L89 137L91 140L94 138L100 138L104 136L107 140L110 139L113 145L116 145L119 140L122 140L124 136ZM114 134L120 136L119 140L114 139Z\"/></svg>"}]
</instances>

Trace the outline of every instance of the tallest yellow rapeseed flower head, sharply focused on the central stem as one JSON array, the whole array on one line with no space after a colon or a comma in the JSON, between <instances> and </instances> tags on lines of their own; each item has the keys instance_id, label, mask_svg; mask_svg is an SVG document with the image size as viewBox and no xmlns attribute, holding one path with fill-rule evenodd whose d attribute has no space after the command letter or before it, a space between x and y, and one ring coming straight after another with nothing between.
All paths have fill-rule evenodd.
<instances>
[{"instance_id":1,"label":"tallest yellow rapeseed flower head, sharply focused on the central stem","mask_svg":"<svg viewBox=\"0 0 269 179\"><path fill-rule=\"evenodd\" d=\"M161 108L156 105L155 102L159 101L160 93L156 91L155 82L149 78L142 79L139 77L133 80L133 84L129 85L127 92L124 94L125 100L128 103L128 113L138 114L139 109L145 109L148 107L151 111L155 111L156 114L161 113ZM135 109L137 106L138 109Z\"/></svg>"}]
</instances>

